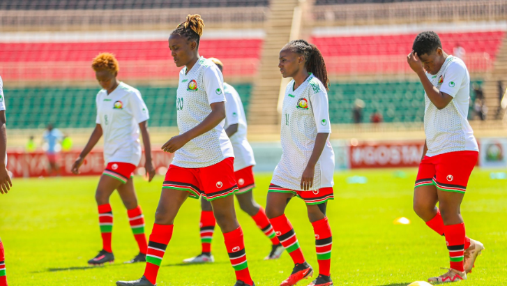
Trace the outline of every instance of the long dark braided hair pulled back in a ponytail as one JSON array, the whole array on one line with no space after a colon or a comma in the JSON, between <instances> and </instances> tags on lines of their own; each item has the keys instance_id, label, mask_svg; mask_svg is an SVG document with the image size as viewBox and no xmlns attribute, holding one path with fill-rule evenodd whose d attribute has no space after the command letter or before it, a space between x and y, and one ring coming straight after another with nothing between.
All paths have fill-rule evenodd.
<instances>
[{"instance_id":1,"label":"long dark braided hair pulled back in a ponytail","mask_svg":"<svg viewBox=\"0 0 507 286\"><path fill-rule=\"evenodd\" d=\"M326 70L326 63L324 57L316 45L310 44L305 40L291 40L285 48L291 52L303 55L305 58L305 67L309 73L317 77L326 89L329 90L328 73Z\"/></svg>"}]
</instances>

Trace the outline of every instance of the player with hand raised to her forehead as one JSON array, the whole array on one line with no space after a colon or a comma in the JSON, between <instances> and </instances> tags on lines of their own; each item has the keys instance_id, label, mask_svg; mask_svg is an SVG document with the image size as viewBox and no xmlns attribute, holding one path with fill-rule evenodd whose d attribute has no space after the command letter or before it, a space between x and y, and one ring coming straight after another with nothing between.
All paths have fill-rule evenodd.
<instances>
[{"instance_id":1,"label":"player with hand raised to her forehead","mask_svg":"<svg viewBox=\"0 0 507 286\"><path fill-rule=\"evenodd\" d=\"M483 244L465 236L460 205L478 158L467 116L470 75L464 62L442 50L437 33L420 33L407 62L425 91L426 142L414 189L414 211L446 236L451 269L433 282L467 279ZM439 208L437 208L439 202Z\"/></svg>"}]
</instances>

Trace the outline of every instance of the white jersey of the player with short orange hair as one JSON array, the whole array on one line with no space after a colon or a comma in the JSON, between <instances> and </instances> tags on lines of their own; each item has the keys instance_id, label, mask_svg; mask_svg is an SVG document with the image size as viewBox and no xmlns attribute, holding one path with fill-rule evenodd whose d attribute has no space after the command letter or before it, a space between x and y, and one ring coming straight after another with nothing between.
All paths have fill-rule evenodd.
<instances>
[{"instance_id":1,"label":"white jersey of the player with short orange hair","mask_svg":"<svg viewBox=\"0 0 507 286\"><path fill-rule=\"evenodd\" d=\"M96 123L102 127L104 135L105 163L121 162L137 166L142 154L139 123L149 119L141 93L120 82L112 93L100 90L96 103Z\"/></svg>"}]
</instances>

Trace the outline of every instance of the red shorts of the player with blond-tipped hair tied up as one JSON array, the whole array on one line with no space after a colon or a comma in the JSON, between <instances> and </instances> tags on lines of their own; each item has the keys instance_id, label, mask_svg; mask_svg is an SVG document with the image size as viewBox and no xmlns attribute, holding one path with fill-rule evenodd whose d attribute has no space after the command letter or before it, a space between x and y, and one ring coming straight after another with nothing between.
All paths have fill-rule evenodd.
<instances>
[{"instance_id":1,"label":"red shorts of the player with blond-tipped hair tied up","mask_svg":"<svg viewBox=\"0 0 507 286\"><path fill-rule=\"evenodd\" d=\"M233 195L237 190L234 158L203 168L182 168L169 165L162 189L186 190L190 197L201 195L209 201Z\"/></svg>"}]
</instances>

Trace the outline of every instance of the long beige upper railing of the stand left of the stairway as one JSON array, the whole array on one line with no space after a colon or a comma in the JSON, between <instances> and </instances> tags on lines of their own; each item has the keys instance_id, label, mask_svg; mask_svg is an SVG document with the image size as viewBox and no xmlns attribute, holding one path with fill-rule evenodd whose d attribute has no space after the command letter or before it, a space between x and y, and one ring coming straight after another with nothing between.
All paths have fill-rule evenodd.
<instances>
[{"instance_id":1,"label":"long beige upper railing of the stand left of the stairway","mask_svg":"<svg viewBox=\"0 0 507 286\"><path fill-rule=\"evenodd\" d=\"M47 30L58 31L89 27L102 30L121 27L162 26L172 29L185 20L186 15L199 13L206 24L231 27L252 27L267 19L267 7L248 8L178 8L133 10L0 10L0 31Z\"/></svg>"}]
</instances>

